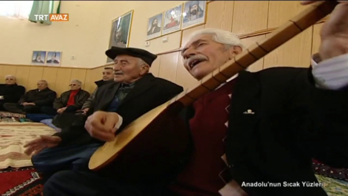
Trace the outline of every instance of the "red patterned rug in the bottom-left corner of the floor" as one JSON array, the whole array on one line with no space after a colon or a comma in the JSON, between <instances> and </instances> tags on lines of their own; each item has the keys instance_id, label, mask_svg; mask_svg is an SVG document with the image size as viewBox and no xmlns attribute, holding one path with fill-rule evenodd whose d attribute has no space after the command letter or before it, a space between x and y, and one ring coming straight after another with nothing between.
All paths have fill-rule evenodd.
<instances>
[{"instance_id":1,"label":"red patterned rug in the bottom-left corner of the floor","mask_svg":"<svg viewBox=\"0 0 348 196\"><path fill-rule=\"evenodd\" d=\"M0 194L3 196L43 195L43 183L32 167L0 170Z\"/></svg>"}]
</instances>

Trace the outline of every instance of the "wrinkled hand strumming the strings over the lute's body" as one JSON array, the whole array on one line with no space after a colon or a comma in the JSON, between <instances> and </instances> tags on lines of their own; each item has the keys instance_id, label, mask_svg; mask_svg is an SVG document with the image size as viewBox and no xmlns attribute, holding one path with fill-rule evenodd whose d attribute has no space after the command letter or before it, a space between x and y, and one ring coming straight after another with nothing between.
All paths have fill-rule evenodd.
<instances>
[{"instance_id":1,"label":"wrinkled hand strumming the strings over the lute's body","mask_svg":"<svg viewBox=\"0 0 348 196\"><path fill-rule=\"evenodd\" d=\"M87 118L85 128L89 135L101 141L112 141L115 138L119 117L115 112L94 112Z\"/></svg>"}]
</instances>

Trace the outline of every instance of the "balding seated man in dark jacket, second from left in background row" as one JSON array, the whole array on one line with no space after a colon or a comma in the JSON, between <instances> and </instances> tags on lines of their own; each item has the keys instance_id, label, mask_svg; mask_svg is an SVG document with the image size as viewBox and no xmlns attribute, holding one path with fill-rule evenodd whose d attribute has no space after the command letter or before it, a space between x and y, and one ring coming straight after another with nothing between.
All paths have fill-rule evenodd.
<instances>
[{"instance_id":1,"label":"balding seated man in dark jacket, second from left in background row","mask_svg":"<svg viewBox=\"0 0 348 196\"><path fill-rule=\"evenodd\" d=\"M4 108L9 112L26 114L26 113L42 113L44 106L52 106L57 93L50 88L46 80L38 81L38 88L29 90L21 97L18 104L6 103Z\"/></svg>"}]
</instances>

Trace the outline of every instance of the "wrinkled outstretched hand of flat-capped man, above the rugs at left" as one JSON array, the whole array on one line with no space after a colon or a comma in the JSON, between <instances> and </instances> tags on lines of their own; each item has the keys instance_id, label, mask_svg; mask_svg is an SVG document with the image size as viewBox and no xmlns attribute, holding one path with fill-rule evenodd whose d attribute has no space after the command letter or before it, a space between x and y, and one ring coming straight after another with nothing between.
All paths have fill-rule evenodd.
<instances>
[{"instance_id":1,"label":"wrinkled outstretched hand of flat-capped man, above the rugs at left","mask_svg":"<svg viewBox=\"0 0 348 196\"><path fill-rule=\"evenodd\" d=\"M40 136L40 138L32 140L24 145L24 148L27 148L24 153L27 155L31 153L37 154L45 148L57 146L60 142L61 138L58 136Z\"/></svg>"}]
</instances>

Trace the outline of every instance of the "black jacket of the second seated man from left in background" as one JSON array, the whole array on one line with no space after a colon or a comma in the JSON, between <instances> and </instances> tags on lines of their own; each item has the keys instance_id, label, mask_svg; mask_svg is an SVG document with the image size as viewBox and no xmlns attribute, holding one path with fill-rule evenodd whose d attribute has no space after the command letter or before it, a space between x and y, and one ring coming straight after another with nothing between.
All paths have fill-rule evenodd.
<instances>
[{"instance_id":1,"label":"black jacket of the second seated man from left in background","mask_svg":"<svg viewBox=\"0 0 348 196\"><path fill-rule=\"evenodd\" d=\"M57 93L48 87L44 90L39 89L29 90L21 97L18 103L34 103L37 106L52 106L54 99L56 99Z\"/></svg>"}]
</instances>

